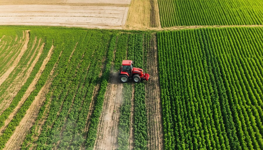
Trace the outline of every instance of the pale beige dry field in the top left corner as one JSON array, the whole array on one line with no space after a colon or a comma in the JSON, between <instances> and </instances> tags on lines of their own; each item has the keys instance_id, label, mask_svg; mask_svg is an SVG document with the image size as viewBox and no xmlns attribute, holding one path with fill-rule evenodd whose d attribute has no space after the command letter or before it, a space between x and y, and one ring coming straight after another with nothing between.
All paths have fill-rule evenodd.
<instances>
[{"instance_id":1,"label":"pale beige dry field in the top left corner","mask_svg":"<svg viewBox=\"0 0 263 150\"><path fill-rule=\"evenodd\" d=\"M0 25L122 29L130 1L0 0Z\"/></svg>"}]
</instances>

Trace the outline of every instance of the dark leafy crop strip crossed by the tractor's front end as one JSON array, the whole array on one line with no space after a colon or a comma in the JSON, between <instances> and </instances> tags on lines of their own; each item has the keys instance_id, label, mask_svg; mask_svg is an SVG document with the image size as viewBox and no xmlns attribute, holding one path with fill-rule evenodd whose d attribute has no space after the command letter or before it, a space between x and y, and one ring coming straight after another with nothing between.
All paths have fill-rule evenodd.
<instances>
[{"instance_id":1,"label":"dark leafy crop strip crossed by the tractor's front end","mask_svg":"<svg viewBox=\"0 0 263 150\"><path fill-rule=\"evenodd\" d=\"M128 59L134 66L145 68L143 47L144 34L131 34L128 42ZM134 149L147 149L147 117L145 105L145 83L134 85Z\"/></svg>"}]
</instances>

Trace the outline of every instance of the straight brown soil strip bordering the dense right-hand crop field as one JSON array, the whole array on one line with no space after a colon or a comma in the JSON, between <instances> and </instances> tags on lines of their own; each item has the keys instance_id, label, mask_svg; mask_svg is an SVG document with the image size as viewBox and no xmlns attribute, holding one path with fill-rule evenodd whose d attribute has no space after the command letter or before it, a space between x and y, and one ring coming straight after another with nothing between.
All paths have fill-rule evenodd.
<instances>
[{"instance_id":1,"label":"straight brown soil strip bordering the dense right-hand crop field","mask_svg":"<svg viewBox=\"0 0 263 150\"><path fill-rule=\"evenodd\" d=\"M160 99L160 81L158 73L157 43L156 36L152 35L151 48L147 54L147 70L150 80L146 82L146 112L147 112L147 133L148 149L164 149L163 127L162 127L162 106Z\"/></svg>"}]
</instances>

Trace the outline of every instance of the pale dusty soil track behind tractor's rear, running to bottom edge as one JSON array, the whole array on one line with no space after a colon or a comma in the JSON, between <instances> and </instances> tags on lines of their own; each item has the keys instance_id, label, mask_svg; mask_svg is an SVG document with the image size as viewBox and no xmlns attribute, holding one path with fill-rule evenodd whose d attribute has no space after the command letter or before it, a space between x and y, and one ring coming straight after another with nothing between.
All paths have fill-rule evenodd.
<instances>
[{"instance_id":1,"label":"pale dusty soil track behind tractor's rear, running to bottom edge","mask_svg":"<svg viewBox=\"0 0 263 150\"><path fill-rule=\"evenodd\" d=\"M122 84L118 80L118 72L110 74L110 81L107 86L98 126L98 136L94 149L117 149L118 124L120 107L123 101Z\"/></svg>"}]
</instances>

